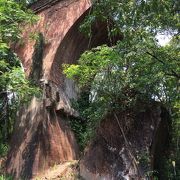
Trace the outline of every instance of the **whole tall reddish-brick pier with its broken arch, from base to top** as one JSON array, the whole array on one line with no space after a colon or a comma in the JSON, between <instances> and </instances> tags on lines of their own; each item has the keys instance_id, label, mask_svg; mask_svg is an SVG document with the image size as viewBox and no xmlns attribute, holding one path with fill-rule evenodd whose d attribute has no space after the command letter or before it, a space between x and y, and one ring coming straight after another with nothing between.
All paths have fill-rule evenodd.
<instances>
[{"instance_id":1,"label":"whole tall reddish-brick pier with its broken arch, from base to top","mask_svg":"<svg viewBox=\"0 0 180 180\"><path fill-rule=\"evenodd\" d=\"M30 6L39 20L24 28L15 51L27 77L46 92L43 101L33 99L19 111L6 163L7 172L17 179L29 179L79 157L74 134L65 122L77 116L70 105L77 88L63 75L62 64L76 63L85 50L109 43L105 22L93 25L91 39L79 31L91 6L90 0L39 0Z\"/></svg>"}]
</instances>

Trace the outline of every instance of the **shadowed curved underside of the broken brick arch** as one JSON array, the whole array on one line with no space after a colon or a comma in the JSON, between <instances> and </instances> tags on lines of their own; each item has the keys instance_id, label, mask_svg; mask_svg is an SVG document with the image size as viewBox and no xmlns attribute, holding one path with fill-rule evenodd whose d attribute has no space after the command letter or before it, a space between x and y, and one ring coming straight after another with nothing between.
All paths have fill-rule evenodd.
<instances>
[{"instance_id":1,"label":"shadowed curved underside of the broken brick arch","mask_svg":"<svg viewBox=\"0 0 180 180\"><path fill-rule=\"evenodd\" d=\"M90 38L80 32L79 27L85 17L88 15L89 11L90 8L86 10L86 12L81 15L70 28L57 49L55 59L51 67L51 79L60 85L61 88L63 88L69 99L77 97L77 88L72 80L67 79L65 75L63 75L62 64L76 64L77 60L84 51L103 44L111 46L112 44L115 44L117 40L122 39L122 36L118 35L117 37L113 38L112 42L112 40L110 40L108 37L107 22L100 20L97 20L92 25L92 35Z\"/></svg>"}]
</instances>

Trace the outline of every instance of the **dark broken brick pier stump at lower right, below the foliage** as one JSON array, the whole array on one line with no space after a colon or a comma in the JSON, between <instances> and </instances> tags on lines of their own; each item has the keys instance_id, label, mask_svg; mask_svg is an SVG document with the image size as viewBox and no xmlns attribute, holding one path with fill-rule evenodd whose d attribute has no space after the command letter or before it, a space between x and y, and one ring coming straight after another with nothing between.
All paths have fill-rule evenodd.
<instances>
[{"instance_id":1,"label":"dark broken brick pier stump at lower right, below the foliage","mask_svg":"<svg viewBox=\"0 0 180 180\"><path fill-rule=\"evenodd\" d=\"M142 112L140 111L142 110ZM168 116L158 104L108 115L85 150L80 174L85 180L145 179L168 138ZM163 112L164 113L164 112ZM163 118L162 118L163 117Z\"/></svg>"}]
</instances>

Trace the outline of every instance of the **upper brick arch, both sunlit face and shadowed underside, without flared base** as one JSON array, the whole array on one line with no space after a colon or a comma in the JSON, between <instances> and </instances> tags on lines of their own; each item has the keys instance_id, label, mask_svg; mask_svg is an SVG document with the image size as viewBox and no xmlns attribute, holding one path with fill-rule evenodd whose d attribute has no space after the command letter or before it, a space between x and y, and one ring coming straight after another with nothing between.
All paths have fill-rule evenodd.
<instances>
[{"instance_id":1,"label":"upper brick arch, both sunlit face and shadowed underside, without flared base","mask_svg":"<svg viewBox=\"0 0 180 180\"><path fill-rule=\"evenodd\" d=\"M62 63L75 63L80 54L88 48L109 43L106 22L98 21L93 25L90 43L90 40L79 32L79 25L91 6L91 0L39 0L32 5L31 8L39 16L39 21L34 26L25 28L24 43L16 48L27 76L32 68L35 44L28 38L30 33L41 33L44 37L42 78L62 86Z\"/></svg>"}]
</instances>

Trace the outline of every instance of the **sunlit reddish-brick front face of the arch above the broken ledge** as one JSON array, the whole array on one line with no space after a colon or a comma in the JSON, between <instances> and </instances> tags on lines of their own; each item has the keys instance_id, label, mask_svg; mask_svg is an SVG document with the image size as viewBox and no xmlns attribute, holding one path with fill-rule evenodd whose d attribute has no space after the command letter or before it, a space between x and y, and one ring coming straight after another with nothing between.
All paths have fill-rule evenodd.
<instances>
[{"instance_id":1,"label":"sunlit reddish-brick front face of the arch above the broken ledge","mask_svg":"<svg viewBox=\"0 0 180 180\"><path fill-rule=\"evenodd\" d=\"M39 16L39 21L34 26L25 28L23 43L16 46L16 52L28 76L35 44L29 39L29 34L42 33L45 40L43 75L45 79L56 81L50 72L57 49L73 24L91 7L91 0L43 0L44 4L38 2L33 4L32 9Z\"/></svg>"}]
</instances>

